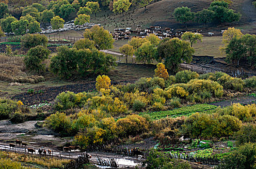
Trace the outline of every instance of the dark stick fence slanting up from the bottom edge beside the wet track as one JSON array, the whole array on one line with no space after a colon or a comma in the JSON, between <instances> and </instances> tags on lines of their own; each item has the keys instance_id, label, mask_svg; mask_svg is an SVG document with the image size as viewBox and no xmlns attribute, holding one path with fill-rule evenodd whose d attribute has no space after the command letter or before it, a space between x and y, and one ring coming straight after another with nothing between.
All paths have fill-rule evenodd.
<instances>
[{"instance_id":1,"label":"dark stick fence slanting up from the bottom edge beside the wet track","mask_svg":"<svg viewBox=\"0 0 256 169\"><path fill-rule=\"evenodd\" d=\"M83 164L90 162L90 155L88 153L78 155L77 159L71 160L70 163L63 166L62 169L78 169Z\"/></svg>"}]
</instances>

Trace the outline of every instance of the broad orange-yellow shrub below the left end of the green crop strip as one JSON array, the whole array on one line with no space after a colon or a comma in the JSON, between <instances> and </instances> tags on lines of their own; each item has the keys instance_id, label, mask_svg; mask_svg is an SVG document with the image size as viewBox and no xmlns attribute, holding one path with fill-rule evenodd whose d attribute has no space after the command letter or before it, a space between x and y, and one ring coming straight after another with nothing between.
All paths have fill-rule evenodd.
<instances>
[{"instance_id":1,"label":"broad orange-yellow shrub below the left end of the green crop strip","mask_svg":"<svg viewBox=\"0 0 256 169\"><path fill-rule=\"evenodd\" d=\"M147 132L149 124L146 119L139 115L128 115L116 121L120 137L136 136Z\"/></svg>"}]
</instances>

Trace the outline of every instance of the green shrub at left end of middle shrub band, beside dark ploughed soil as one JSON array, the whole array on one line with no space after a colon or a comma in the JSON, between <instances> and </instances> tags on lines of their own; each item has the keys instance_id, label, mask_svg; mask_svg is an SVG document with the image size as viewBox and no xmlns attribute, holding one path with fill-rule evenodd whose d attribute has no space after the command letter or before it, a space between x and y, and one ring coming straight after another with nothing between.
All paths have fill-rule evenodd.
<instances>
[{"instance_id":1,"label":"green shrub at left end of middle shrub band, beside dark ploughed soil","mask_svg":"<svg viewBox=\"0 0 256 169\"><path fill-rule=\"evenodd\" d=\"M62 92L54 100L54 109L62 112L68 109L75 108L76 94L74 92Z\"/></svg>"}]
</instances>

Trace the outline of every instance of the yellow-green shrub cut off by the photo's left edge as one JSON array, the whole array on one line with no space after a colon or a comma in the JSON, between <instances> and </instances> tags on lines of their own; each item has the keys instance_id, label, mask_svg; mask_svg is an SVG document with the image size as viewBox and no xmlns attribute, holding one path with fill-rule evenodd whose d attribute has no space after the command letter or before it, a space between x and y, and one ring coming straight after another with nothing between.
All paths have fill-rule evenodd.
<instances>
[{"instance_id":1,"label":"yellow-green shrub cut off by the photo's left edge","mask_svg":"<svg viewBox=\"0 0 256 169\"><path fill-rule=\"evenodd\" d=\"M18 104L16 101L0 98L0 120L8 119L9 115L15 113L17 109Z\"/></svg>"}]
</instances>

